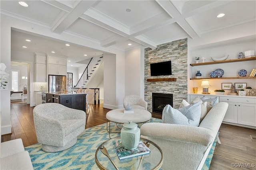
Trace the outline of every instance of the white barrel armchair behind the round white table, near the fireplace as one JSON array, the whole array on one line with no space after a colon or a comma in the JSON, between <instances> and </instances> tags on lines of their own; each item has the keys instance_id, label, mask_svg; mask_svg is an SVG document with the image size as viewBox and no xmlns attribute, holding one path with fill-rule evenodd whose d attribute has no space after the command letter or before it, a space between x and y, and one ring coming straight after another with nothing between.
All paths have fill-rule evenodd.
<instances>
[{"instance_id":1,"label":"white barrel armchair behind the round white table, near the fireplace","mask_svg":"<svg viewBox=\"0 0 256 170\"><path fill-rule=\"evenodd\" d=\"M135 109L145 109L148 108L148 103L137 95L128 95L124 97L124 107L127 105L132 106Z\"/></svg>"}]
</instances>

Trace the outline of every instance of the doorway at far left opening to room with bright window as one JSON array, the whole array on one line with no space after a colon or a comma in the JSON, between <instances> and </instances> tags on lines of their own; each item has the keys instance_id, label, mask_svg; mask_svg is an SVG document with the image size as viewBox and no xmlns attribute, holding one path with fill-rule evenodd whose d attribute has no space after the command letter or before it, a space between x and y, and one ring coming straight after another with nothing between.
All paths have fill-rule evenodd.
<instances>
[{"instance_id":1,"label":"doorway at far left opening to room with bright window","mask_svg":"<svg viewBox=\"0 0 256 170\"><path fill-rule=\"evenodd\" d=\"M30 63L11 61L10 74L12 75L11 100L16 100L15 103L30 104ZM24 94L24 91L27 94Z\"/></svg>"}]
</instances>

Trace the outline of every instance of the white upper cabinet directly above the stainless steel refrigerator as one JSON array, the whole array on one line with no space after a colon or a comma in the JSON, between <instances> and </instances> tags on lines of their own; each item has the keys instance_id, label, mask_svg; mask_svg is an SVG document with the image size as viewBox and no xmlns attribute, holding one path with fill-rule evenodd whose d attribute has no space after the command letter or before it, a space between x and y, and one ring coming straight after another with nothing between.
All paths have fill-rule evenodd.
<instances>
[{"instance_id":1,"label":"white upper cabinet directly above the stainless steel refrigerator","mask_svg":"<svg viewBox=\"0 0 256 170\"><path fill-rule=\"evenodd\" d=\"M66 76L67 58L47 55L47 73L51 75Z\"/></svg>"}]
</instances>

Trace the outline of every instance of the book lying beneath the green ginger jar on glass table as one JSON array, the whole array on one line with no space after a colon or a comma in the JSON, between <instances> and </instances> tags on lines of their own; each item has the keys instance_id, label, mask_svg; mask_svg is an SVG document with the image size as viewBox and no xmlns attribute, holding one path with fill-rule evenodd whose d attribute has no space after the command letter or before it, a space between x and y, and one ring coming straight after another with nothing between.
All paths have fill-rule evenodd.
<instances>
[{"instance_id":1,"label":"book lying beneath the green ginger jar on glass table","mask_svg":"<svg viewBox=\"0 0 256 170\"><path fill-rule=\"evenodd\" d=\"M113 147L120 160L150 153L150 149L148 149L148 147L142 141L140 141L138 147L133 150L125 149L122 145L121 139L118 141L113 141Z\"/></svg>"}]
</instances>

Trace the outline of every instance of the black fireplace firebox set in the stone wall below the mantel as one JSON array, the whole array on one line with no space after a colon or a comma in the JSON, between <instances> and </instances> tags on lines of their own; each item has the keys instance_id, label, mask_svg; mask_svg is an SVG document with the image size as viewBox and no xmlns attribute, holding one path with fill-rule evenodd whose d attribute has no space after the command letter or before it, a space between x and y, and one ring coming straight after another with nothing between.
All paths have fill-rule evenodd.
<instances>
[{"instance_id":1,"label":"black fireplace firebox set in the stone wall below the mantel","mask_svg":"<svg viewBox=\"0 0 256 170\"><path fill-rule=\"evenodd\" d=\"M173 107L173 94L152 93L152 112L162 113L168 104Z\"/></svg>"}]
</instances>

